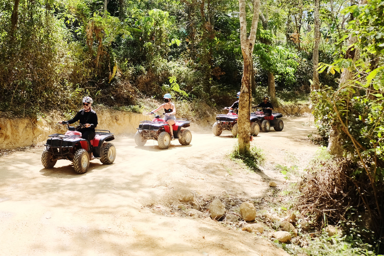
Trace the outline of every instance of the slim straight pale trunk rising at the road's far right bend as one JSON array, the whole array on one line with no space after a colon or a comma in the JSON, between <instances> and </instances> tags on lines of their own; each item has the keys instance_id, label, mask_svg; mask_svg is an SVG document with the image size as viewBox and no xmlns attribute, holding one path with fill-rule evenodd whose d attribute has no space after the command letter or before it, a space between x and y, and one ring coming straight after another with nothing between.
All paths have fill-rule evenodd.
<instances>
[{"instance_id":1,"label":"slim straight pale trunk rising at the road's far right bend","mask_svg":"<svg viewBox=\"0 0 384 256\"><path fill-rule=\"evenodd\" d=\"M320 18L319 18L320 0L314 0L314 44L313 44L313 77L311 90L320 88L318 80L318 45L320 42Z\"/></svg>"}]
</instances>

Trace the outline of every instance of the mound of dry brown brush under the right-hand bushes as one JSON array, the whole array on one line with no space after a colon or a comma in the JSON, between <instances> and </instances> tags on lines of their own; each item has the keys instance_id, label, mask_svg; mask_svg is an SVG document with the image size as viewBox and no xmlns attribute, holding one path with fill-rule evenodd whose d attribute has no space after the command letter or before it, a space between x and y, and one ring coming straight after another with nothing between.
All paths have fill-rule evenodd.
<instances>
[{"instance_id":1,"label":"mound of dry brown brush under the right-hand bushes","mask_svg":"<svg viewBox=\"0 0 384 256\"><path fill-rule=\"evenodd\" d=\"M347 160L314 163L300 183L297 209L303 215L313 215L319 229L325 221L329 224L345 221L351 207L356 209L361 205L355 183L349 178L355 168L355 164Z\"/></svg>"}]
</instances>

